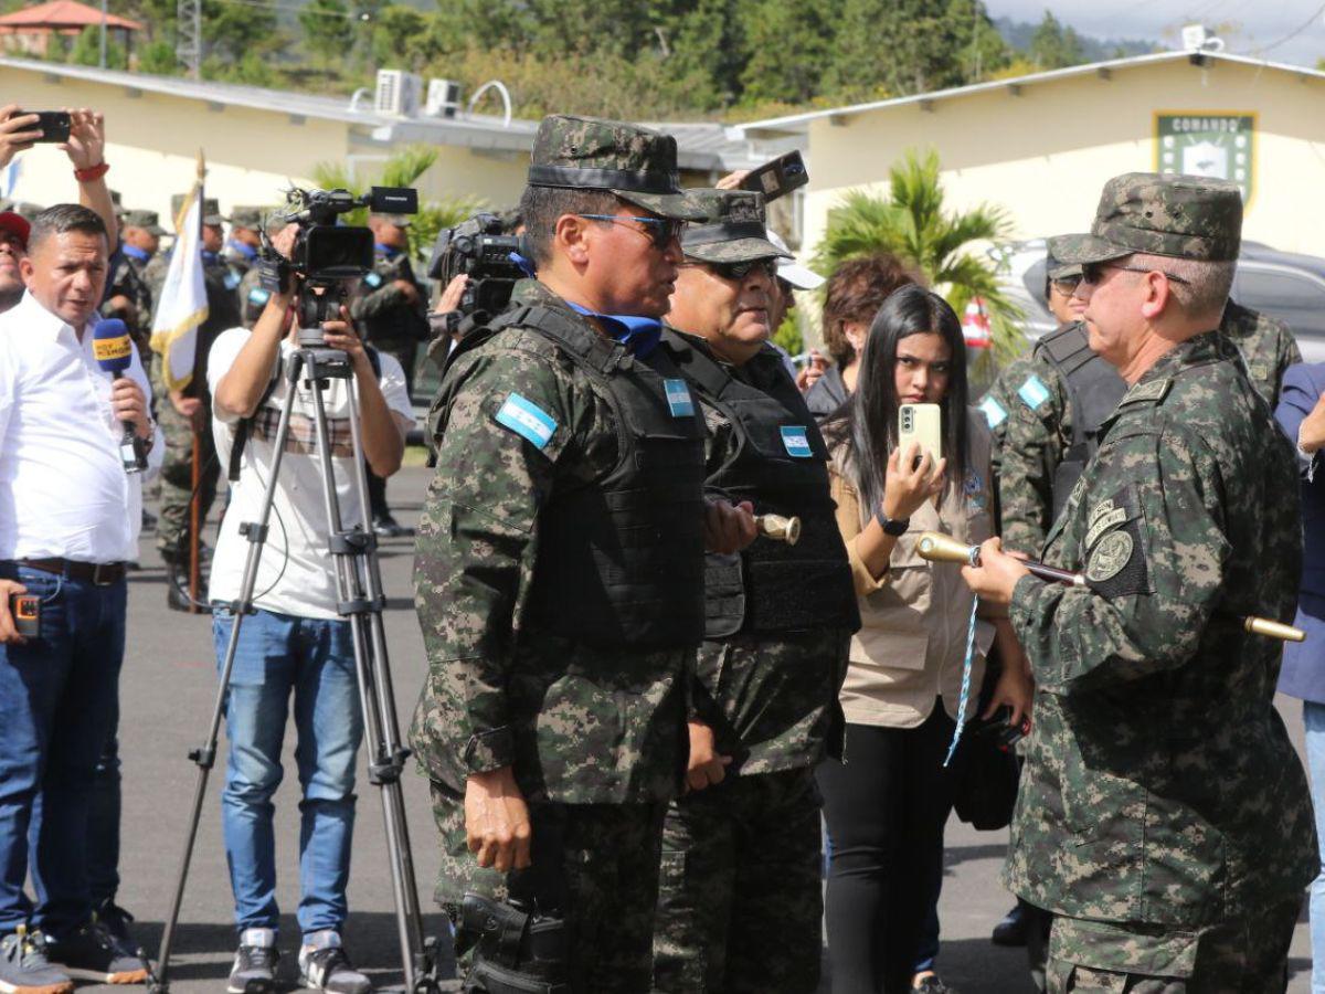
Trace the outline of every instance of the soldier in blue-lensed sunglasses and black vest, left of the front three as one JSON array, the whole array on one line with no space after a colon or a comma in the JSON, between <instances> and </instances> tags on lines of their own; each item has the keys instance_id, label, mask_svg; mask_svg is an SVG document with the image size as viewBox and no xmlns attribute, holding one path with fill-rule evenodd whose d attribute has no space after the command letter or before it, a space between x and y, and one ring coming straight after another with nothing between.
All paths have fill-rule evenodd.
<instances>
[{"instance_id":1,"label":"soldier in blue-lensed sunglasses and black vest, left of the front three","mask_svg":"<svg viewBox=\"0 0 1325 994\"><path fill-rule=\"evenodd\" d=\"M568 970L541 979L574 991L651 987L704 549L754 538L749 509L706 502L704 421L657 347L674 219L693 213L673 138L546 118L522 200L538 280L452 353L429 419L429 672L409 738L441 831L437 900L453 918L466 892L562 917Z\"/></svg>"}]
</instances>

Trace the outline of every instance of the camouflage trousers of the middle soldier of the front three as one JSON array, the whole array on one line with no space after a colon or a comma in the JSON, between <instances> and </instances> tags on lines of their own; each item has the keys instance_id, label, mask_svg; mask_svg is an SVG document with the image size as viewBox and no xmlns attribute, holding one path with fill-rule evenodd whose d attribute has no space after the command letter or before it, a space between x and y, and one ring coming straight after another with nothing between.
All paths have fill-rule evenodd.
<instances>
[{"instance_id":1,"label":"camouflage trousers of the middle soldier of the front three","mask_svg":"<svg viewBox=\"0 0 1325 994\"><path fill-rule=\"evenodd\" d=\"M811 994L823 949L814 771L727 777L672 802L653 926L669 994Z\"/></svg>"}]
</instances>

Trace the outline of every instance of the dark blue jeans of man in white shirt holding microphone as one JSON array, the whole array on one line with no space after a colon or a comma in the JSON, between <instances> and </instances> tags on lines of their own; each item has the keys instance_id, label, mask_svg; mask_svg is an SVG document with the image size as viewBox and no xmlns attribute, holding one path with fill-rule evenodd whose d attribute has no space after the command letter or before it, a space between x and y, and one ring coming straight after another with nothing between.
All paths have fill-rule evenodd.
<instances>
[{"instance_id":1,"label":"dark blue jeans of man in white shirt holding microphone","mask_svg":"<svg viewBox=\"0 0 1325 994\"><path fill-rule=\"evenodd\" d=\"M0 645L0 934L30 921L58 938L91 913L87 812L118 710L125 582L13 563L0 574L42 602L41 637ZM36 903L23 889L29 859Z\"/></svg>"}]
</instances>

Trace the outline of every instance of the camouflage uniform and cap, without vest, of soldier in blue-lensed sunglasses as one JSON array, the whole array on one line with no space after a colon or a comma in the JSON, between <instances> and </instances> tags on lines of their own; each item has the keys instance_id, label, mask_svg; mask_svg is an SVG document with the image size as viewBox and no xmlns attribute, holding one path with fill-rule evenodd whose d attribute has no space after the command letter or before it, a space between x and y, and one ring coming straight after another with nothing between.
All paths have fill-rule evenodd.
<instances>
[{"instance_id":1,"label":"camouflage uniform and cap, without vest, of soldier in blue-lensed sunglasses","mask_svg":"<svg viewBox=\"0 0 1325 994\"><path fill-rule=\"evenodd\" d=\"M533 163L535 184L538 168L666 176L676 143L628 125L547 118ZM628 196L664 211L686 204L648 182L653 192ZM598 334L542 284L518 284L514 302ZM566 357L547 334L511 326L457 353L445 374L431 419L439 468L415 561L428 677L409 740L441 832L437 901L454 916L465 892L541 896L545 908L553 896L570 930L572 989L645 991L694 644L596 648L541 630L530 610L531 582L547 566L539 557L549 502L599 488L620 459L615 407ZM559 425L541 447L497 420L515 395ZM696 444L696 501L701 459ZM505 766L529 801L534 847L533 868L509 876L468 852L462 810L468 775Z\"/></svg>"}]
</instances>

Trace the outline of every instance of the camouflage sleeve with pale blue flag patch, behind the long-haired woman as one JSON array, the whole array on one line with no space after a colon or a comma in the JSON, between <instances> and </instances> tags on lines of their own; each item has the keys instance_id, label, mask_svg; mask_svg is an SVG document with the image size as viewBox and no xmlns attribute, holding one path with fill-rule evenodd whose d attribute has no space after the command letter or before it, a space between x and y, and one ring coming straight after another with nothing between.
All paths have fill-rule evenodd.
<instances>
[{"instance_id":1,"label":"camouflage sleeve with pale blue flag patch, behind the long-haired woman","mask_svg":"<svg viewBox=\"0 0 1325 994\"><path fill-rule=\"evenodd\" d=\"M1003 543L1036 555L1053 524L1053 473L1071 435L1067 388L1051 362L1031 362L1010 407L998 477Z\"/></svg>"}]
</instances>

